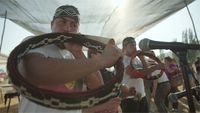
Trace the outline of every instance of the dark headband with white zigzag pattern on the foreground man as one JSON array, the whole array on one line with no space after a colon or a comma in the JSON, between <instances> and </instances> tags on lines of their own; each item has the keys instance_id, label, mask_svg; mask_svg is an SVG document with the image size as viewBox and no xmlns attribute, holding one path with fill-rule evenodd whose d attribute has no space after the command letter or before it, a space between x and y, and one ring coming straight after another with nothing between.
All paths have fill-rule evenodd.
<instances>
[{"instance_id":1,"label":"dark headband with white zigzag pattern on the foreground man","mask_svg":"<svg viewBox=\"0 0 200 113\"><path fill-rule=\"evenodd\" d=\"M62 5L56 9L53 20L55 18L69 17L79 23L79 15L80 13L76 7L72 5Z\"/></svg>"}]
</instances>

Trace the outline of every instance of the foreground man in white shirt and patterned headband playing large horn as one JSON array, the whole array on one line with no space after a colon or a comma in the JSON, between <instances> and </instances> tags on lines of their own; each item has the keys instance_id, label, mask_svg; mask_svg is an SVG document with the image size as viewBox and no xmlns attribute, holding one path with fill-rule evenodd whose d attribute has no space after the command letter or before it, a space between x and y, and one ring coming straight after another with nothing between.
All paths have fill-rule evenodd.
<instances>
[{"instance_id":1,"label":"foreground man in white shirt and patterned headband playing large horn","mask_svg":"<svg viewBox=\"0 0 200 113\"><path fill-rule=\"evenodd\" d=\"M78 33L79 15L78 9L72 5L58 7L51 22L52 32ZM35 86L61 92L81 91L83 84L87 84L89 89L102 86L98 70L112 66L121 56L121 50L109 42L102 54L87 59L81 45L67 42L31 50L18 68L22 76ZM116 113L120 103L121 99L116 97L92 108L58 110L21 96L19 113Z\"/></svg>"}]
</instances>

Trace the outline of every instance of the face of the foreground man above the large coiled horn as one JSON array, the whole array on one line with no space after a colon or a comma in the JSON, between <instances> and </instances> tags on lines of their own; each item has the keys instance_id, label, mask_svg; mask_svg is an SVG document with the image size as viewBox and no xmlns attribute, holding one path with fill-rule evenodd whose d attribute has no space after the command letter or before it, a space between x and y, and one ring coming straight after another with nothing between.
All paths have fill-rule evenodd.
<instances>
[{"instance_id":1,"label":"face of the foreground man above the large coiled horn","mask_svg":"<svg viewBox=\"0 0 200 113\"><path fill-rule=\"evenodd\" d=\"M52 32L77 33L79 23L69 17L55 18L51 23Z\"/></svg>"}]
</instances>

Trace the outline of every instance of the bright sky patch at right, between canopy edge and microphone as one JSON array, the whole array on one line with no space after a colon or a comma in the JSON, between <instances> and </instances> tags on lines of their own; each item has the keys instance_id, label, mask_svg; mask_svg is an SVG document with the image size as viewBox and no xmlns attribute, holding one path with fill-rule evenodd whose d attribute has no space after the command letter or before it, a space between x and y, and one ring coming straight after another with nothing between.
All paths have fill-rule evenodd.
<instances>
[{"instance_id":1,"label":"bright sky patch at right, between canopy edge and microphone","mask_svg":"<svg viewBox=\"0 0 200 113\"><path fill-rule=\"evenodd\" d=\"M194 1L188 6L188 8L194 20L197 37L200 40L200 0ZM141 39L148 38L151 40L163 42L172 42L175 40L177 40L178 42L182 42L182 32L186 29L194 30L187 8L183 8L182 10L178 11L177 13L171 15L169 18L159 23L158 25L141 34L139 37L136 38L136 41L137 43L139 43ZM155 52L157 55L159 54L158 50L156 50Z\"/></svg>"}]
</instances>

